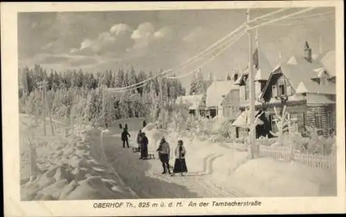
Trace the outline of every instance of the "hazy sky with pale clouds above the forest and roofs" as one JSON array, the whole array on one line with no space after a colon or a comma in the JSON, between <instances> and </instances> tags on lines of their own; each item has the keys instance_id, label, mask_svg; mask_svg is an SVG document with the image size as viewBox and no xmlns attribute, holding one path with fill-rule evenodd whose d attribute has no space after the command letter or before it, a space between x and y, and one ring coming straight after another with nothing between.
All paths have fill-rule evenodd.
<instances>
[{"instance_id":1,"label":"hazy sky with pale clouds above the forest and roofs","mask_svg":"<svg viewBox=\"0 0 346 217\"><path fill-rule=\"evenodd\" d=\"M251 19L277 9L251 10ZM280 15L295 12L291 9ZM313 14L321 14L312 16ZM280 17L275 15L275 17ZM302 16L308 16L299 18ZM302 55L304 41L318 53L335 49L334 8L318 8L258 29L260 46L275 66L282 58ZM152 70L174 67L224 37L245 21L244 10L163 10L122 12L30 12L18 19L19 63L67 70L116 70L119 67ZM261 20L266 21L266 20ZM255 32L254 32L255 33ZM210 56L208 56L210 57ZM180 75L208 57L176 72ZM245 35L202 68L225 77L248 61ZM182 79L187 86L191 76Z\"/></svg>"}]
</instances>

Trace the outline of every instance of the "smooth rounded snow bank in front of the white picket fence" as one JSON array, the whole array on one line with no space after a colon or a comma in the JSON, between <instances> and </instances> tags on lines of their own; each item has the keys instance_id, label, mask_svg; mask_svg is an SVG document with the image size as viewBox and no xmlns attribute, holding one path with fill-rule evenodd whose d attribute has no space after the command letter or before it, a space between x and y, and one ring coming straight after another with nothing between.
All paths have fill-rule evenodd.
<instances>
[{"instance_id":1,"label":"smooth rounded snow bank in front of the white picket fence","mask_svg":"<svg viewBox=\"0 0 346 217\"><path fill-rule=\"evenodd\" d=\"M240 166L229 182L251 196L332 196L336 194L332 173L296 162L260 158Z\"/></svg>"}]
</instances>

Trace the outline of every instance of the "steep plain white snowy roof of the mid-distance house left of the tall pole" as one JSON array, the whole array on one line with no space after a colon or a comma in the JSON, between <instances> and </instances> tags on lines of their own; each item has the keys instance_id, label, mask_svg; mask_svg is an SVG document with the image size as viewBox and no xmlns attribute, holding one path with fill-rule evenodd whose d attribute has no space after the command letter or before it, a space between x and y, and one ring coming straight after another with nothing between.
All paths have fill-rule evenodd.
<instances>
[{"instance_id":1,"label":"steep plain white snowy roof of the mid-distance house left of the tall pole","mask_svg":"<svg viewBox=\"0 0 346 217\"><path fill-rule=\"evenodd\" d=\"M220 106L224 97L233 89L239 86L234 85L233 80L212 82L207 89L206 106Z\"/></svg>"}]
</instances>

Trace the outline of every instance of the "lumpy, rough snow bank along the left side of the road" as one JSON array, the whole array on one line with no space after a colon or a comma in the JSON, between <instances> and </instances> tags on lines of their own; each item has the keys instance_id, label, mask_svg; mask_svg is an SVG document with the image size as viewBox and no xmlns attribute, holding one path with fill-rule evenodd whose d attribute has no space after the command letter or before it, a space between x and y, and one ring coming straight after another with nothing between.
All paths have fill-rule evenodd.
<instances>
[{"instance_id":1,"label":"lumpy, rough snow bank along the left side of the road","mask_svg":"<svg viewBox=\"0 0 346 217\"><path fill-rule=\"evenodd\" d=\"M89 137L100 136L100 131L90 131L91 127L75 126L68 138L41 142L36 147L36 176L21 176L21 200L134 198L104 162L91 156Z\"/></svg>"}]
</instances>

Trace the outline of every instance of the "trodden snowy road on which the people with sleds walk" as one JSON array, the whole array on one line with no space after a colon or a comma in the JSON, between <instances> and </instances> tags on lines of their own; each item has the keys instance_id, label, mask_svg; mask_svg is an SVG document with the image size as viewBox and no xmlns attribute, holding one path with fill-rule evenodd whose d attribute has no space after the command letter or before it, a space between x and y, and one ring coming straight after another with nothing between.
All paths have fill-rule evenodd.
<instances>
[{"instance_id":1,"label":"trodden snowy road on which the people with sleds walk","mask_svg":"<svg viewBox=\"0 0 346 217\"><path fill-rule=\"evenodd\" d=\"M131 133L131 135L136 135ZM130 146L134 138L130 139ZM104 154L107 163L118 173L125 185L136 192L139 198L198 198L198 197L244 197L236 189L225 186L212 178L212 164L220 154L203 158L203 169L188 173L187 176L161 175L161 162L139 160L139 155L130 149L123 149L118 136L104 137Z\"/></svg>"}]
</instances>

